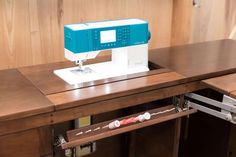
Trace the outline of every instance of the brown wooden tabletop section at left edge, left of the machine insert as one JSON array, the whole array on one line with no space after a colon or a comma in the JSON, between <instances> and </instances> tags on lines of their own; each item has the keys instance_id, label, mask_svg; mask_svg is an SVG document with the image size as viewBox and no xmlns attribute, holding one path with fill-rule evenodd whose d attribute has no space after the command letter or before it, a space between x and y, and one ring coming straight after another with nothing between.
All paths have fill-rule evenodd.
<instances>
[{"instance_id":1,"label":"brown wooden tabletop section at left edge, left of the machine insert","mask_svg":"<svg viewBox=\"0 0 236 157\"><path fill-rule=\"evenodd\" d=\"M54 105L16 69L0 71L0 121L54 110Z\"/></svg>"}]
</instances>

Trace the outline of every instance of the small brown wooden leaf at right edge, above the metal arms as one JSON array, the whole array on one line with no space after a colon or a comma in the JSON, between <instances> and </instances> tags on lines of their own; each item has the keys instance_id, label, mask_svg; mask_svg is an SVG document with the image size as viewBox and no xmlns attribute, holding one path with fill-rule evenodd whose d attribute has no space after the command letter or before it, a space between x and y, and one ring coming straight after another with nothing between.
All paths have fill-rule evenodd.
<instances>
[{"instance_id":1,"label":"small brown wooden leaf at right edge, above the metal arms","mask_svg":"<svg viewBox=\"0 0 236 157\"><path fill-rule=\"evenodd\" d=\"M202 81L204 85L236 98L236 73Z\"/></svg>"}]
</instances>

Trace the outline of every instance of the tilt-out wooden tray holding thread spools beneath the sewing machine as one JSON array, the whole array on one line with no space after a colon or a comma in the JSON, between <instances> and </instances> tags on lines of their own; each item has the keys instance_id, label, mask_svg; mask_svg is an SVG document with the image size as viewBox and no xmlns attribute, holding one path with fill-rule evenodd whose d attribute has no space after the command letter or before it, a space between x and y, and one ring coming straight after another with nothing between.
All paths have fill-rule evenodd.
<instances>
[{"instance_id":1,"label":"tilt-out wooden tray holding thread spools beneath the sewing machine","mask_svg":"<svg viewBox=\"0 0 236 157\"><path fill-rule=\"evenodd\" d=\"M88 142L96 141L102 138L111 137L114 135L122 134L125 132L129 132L132 130L144 128L147 126L151 126L154 124L158 124L161 122L165 122L168 120L176 119L179 117L187 116L189 114L195 113L195 109L190 108L176 108L174 105L168 105L165 107L161 107L158 109L148 110L146 111L150 113L151 117L149 120L145 120L143 122L133 122L127 125L121 125L118 128L115 129L109 129L108 125L111 122L114 122L115 120L111 121L105 121L102 123L90 125L87 127L71 130L67 132L67 139L68 141L65 141L63 144L61 144L62 149L67 149L71 147L75 147L78 145L82 145ZM122 117L117 119L118 121L122 121L124 119L130 119L132 117L138 117L139 115L142 115L146 112L133 114L130 116Z\"/></svg>"}]
</instances>

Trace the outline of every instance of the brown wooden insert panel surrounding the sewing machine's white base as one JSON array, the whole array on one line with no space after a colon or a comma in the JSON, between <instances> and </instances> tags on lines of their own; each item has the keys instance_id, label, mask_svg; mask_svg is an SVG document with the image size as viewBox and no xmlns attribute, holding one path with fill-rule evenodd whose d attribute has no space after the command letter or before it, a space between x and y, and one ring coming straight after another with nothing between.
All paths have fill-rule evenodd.
<instances>
[{"instance_id":1,"label":"brown wooden insert panel surrounding the sewing machine's white base","mask_svg":"<svg viewBox=\"0 0 236 157\"><path fill-rule=\"evenodd\" d=\"M109 58L110 57L107 57L107 56L98 57L95 60L86 62L86 64L107 61L109 60ZM113 78L80 83L76 85L70 85L64 80L62 80L60 77L55 75L53 72L54 70L64 69L68 67L75 67L75 65L71 62L57 62L57 63L43 64L43 65L22 67L22 68L19 68L19 71L45 95L60 93L60 92L79 89L79 88L86 88L86 87L91 87L91 86L108 84L112 82L128 80L128 79L138 78L138 77L143 77L143 76L149 76L149 75L154 75L154 74L159 74L159 73L170 72L170 70L168 69L159 68L159 69L150 70L148 72L123 75L123 76L118 76L118 77L113 77ZM150 67L150 69L153 69L153 68Z\"/></svg>"}]
</instances>

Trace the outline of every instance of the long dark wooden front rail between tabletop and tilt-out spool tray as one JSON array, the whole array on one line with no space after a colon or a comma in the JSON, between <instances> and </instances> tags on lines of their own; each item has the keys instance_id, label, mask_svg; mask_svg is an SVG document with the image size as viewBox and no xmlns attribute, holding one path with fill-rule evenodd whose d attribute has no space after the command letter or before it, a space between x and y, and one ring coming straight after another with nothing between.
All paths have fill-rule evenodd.
<instances>
[{"instance_id":1,"label":"long dark wooden front rail between tabletop and tilt-out spool tray","mask_svg":"<svg viewBox=\"0 0 236 157\"><path fill-rule=\"evenodd\" d=\"M76 107L55 111L52 114L52 122L60 123L63 121L73 120L88 115L95 115L109 111L124 109L127 107L137 106L140 104L149 103L152 101L161 100L184 93L194 92L201 89L204 89L204 86L202 86L200 82L191 82L86 105L79 105L78 102L75 102L74 104L70 104L70 106ZM63 107L65 108L68 106Z\"/></svg>"}]
</instances>

